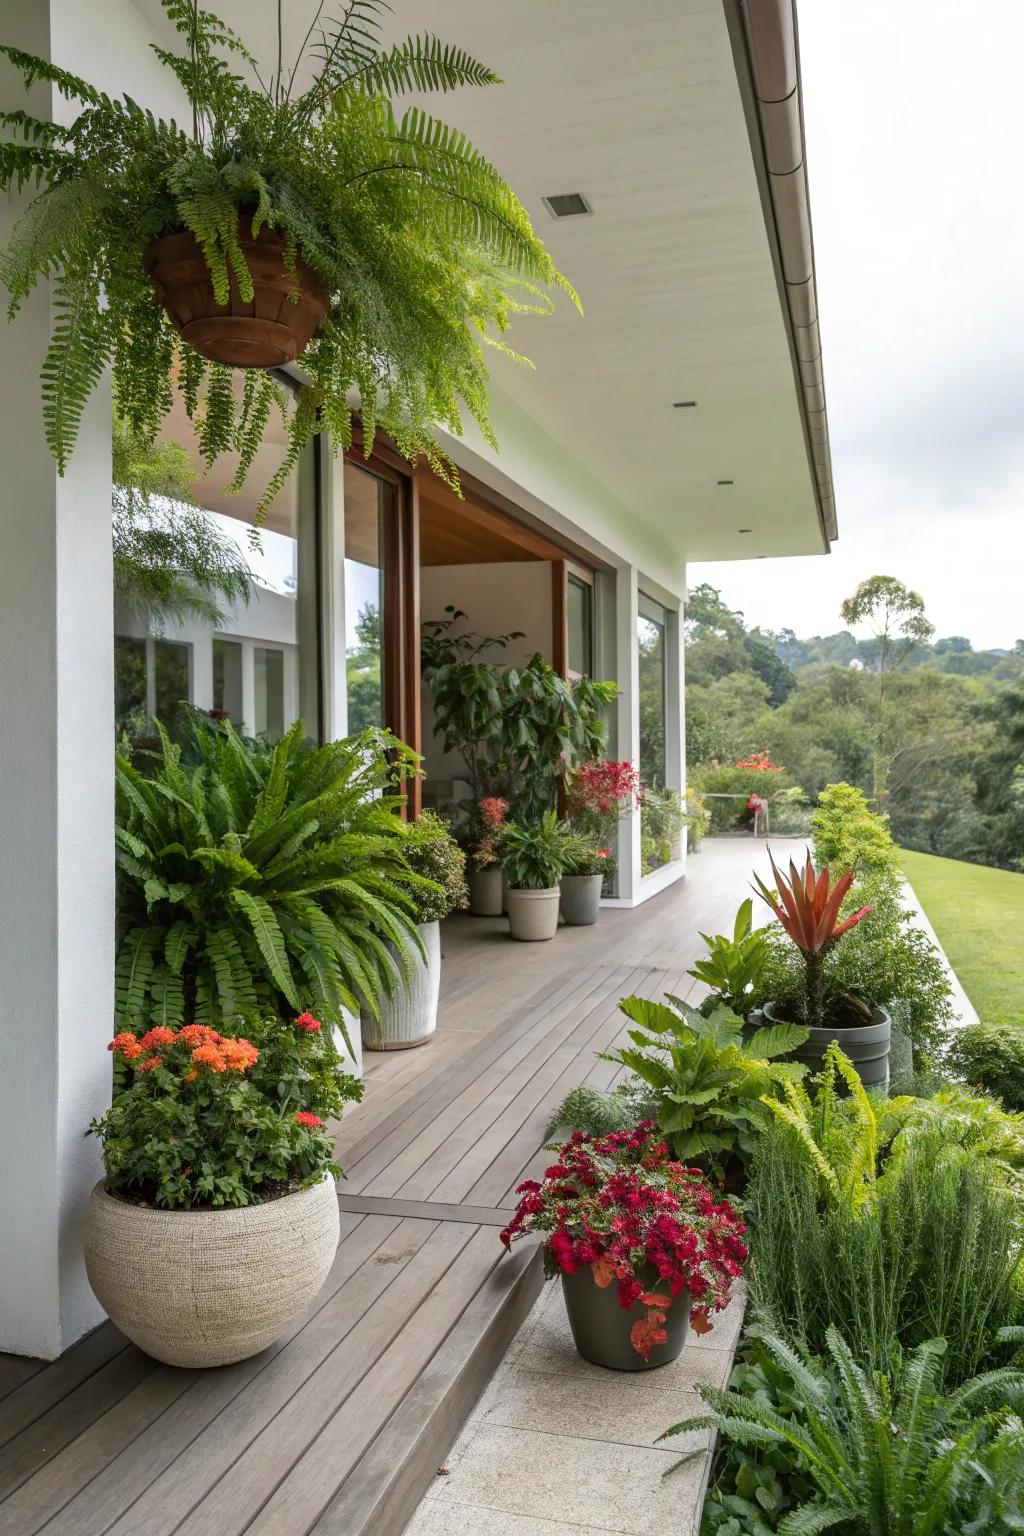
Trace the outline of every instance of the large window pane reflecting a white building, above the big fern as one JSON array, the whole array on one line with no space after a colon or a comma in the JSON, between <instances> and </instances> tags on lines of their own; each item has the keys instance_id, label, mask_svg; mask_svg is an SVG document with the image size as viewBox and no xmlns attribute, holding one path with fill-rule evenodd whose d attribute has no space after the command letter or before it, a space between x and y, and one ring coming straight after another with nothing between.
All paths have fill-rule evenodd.
<instances>
[{"instance_id":1,"label":"large window pane reflecting a white building, above the big fern","mask_svg":"<svg viewBox=\"0 0 1024 1536\"><path fill-rule=\"evenodd\" d=\"M241 390L241 378L235 387ZM316 737L316 449L306 450L267 508L263 528L253 535L259 498L287 450L276 412L238 493L227 488L230 455L204 472L195 430L178 399L160 441L183 450L186 472L190 462L195 478L189 495L195 505L154 496L147 507L132 504L130 516L115 518L118 722L130 717L130 734L149 734L146 714L155 710L161 723L173 727L173 707L190 699L197 708L230 719L250 736L261 728L279 736L301 714L307 734ZM160 536L152 538L154 531ZM161 607L155 594L169 590L183 593L186 601ZM197 601L187 601L190 596ZM127 674L132 667L138 670L147 637L140 703L138 684L129 700ZM263 664L266 688L258 719L259 650L273 659Z\"/></svg>"}]
</instances>

